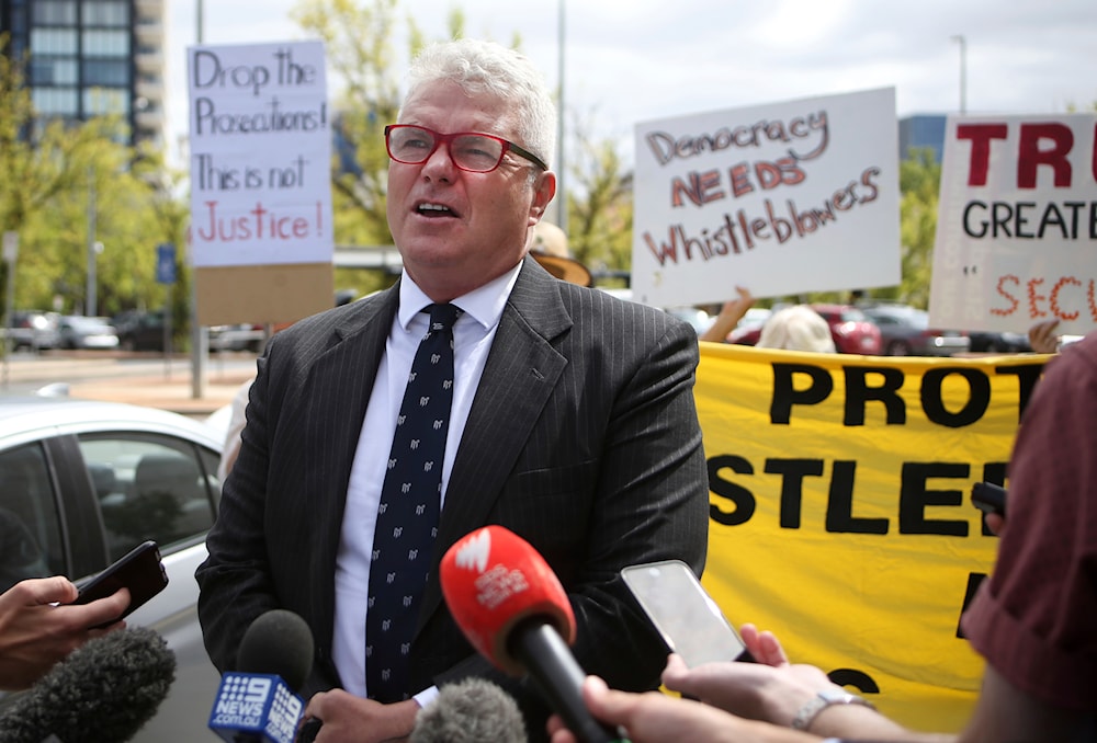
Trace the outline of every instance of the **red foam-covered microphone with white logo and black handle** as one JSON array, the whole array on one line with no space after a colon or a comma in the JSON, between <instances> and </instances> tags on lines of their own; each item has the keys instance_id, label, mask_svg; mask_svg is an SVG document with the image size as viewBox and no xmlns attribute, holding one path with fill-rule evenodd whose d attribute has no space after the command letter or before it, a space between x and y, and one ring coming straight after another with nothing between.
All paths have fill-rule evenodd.
<instances>
[{"instance_id":1,"label":"red foam-covered microphone with white logo and black handle","mask_svg":"<svg viewBox=\"0 0 1097 743\"><path fill-rule=\"evenodd\" d=\"M480 655L512 676L529 673L580 741L623 740L583 704L586 674L568 648L575 614L559 579L528 541L485 526L446 550L439 579L450 613Z\"/></svg>"}]
</instances>

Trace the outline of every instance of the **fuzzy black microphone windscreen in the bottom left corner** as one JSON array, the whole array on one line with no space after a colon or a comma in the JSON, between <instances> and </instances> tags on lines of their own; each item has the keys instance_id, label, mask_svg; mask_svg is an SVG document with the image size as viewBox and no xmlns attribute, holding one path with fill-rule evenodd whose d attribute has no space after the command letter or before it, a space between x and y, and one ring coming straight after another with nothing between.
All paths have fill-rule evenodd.
<instances>
[{"instance_id":1,"label":"fuzzy black microphone windscreen in the bottom left corner","mask_svg":"<svg viewBox=\"0 0 1097 743\"><path fill-rule=\"evenodd\" d=\"M176 679L176 653L147 627L89 640L0 716L4 743L128 741Z\"/></svg>"}]
</instances>

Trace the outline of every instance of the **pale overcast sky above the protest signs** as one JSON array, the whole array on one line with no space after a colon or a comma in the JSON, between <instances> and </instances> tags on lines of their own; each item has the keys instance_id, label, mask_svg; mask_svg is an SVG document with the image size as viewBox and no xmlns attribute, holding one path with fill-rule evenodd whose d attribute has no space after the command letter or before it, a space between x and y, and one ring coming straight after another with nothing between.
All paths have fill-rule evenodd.
<instances>
[{"instance_id":1,"label":"pale overcast sky above the protest signs","mask_svg":"<svg viewBox=\"0 0 1097 743\"><path fill-rule=\"evenodd\" d=\"M172 137L185 134L185 49L196 38L197 1L167 3ZM638 122L881 87L895 88L901 117L955 112L958 35L966 42L969 113L1059 113L1097 102L1095 0L403 0L399 13L414 15L429 38L444 35L454 7L465 12L466 35L509 44L518 33L555 87L559 2L565 106L597 134L630 142ZM204 42L306 38L289 20L295 4L205 0ZM406 43L394 48L404 65Z\"/></svg>"}]
</instances>

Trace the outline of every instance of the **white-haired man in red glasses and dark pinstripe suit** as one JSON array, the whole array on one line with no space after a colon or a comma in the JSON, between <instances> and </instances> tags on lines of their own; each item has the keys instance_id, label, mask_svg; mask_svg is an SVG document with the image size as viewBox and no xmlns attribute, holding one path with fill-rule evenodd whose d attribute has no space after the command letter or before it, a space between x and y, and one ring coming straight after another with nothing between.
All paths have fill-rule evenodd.
<instances>
[{"instance_id":1,"label":"white-haired man in red glasses and dark pinstripe suit","mask_svg":"<svg viewBox=\"0 0 1097 743\"><path fill-rule=\"evenodd\" d=\"M412 698L365 683L364 615L376 510L421 310L452 302L453 409L433 565L462 536L500 524L559 576L583 667L612 686L658 685L666 651L619 578L678 558L700 574L708 478L693 403L697 336L686 323L552 277L525 255L556 188L545 164L555 111L522 56L462 39L412 67L386 129L388 222L404 260L391 289L295 323L259 359L239 458L199 568L206 648L231 668L263 611L313 629L303 694L318 741L402 739L437 687L501 684L533 740L547 709L528 679L476 655L437 571L410 647ZM470 134L472 133L472 134ZM420 317L417 317L420 316Z\"/></svg>"}]
</instances>

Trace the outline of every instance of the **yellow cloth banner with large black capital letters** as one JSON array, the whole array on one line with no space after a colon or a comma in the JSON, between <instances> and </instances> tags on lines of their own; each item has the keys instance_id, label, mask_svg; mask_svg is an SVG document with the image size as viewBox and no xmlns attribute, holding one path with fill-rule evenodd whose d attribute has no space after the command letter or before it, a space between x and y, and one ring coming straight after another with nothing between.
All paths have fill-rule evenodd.
<instances>
[{"instance_id":1,"label":"yellow cloth banner with large black capital letters","mask_svg":"<svg viewBox=\"0 0 1097 743\"><path fill-rule=\"evenodd\" d=\"M903 724L959 730L983 672L960 614L997 547L971 487L1005 481L1045 361L702 343L703 583L732 624Z\"/></svg>"}]
</instances>

